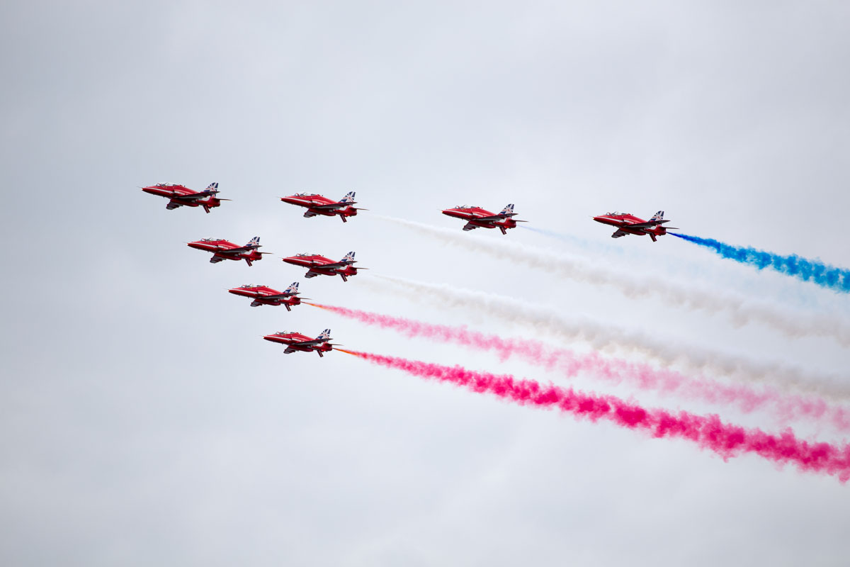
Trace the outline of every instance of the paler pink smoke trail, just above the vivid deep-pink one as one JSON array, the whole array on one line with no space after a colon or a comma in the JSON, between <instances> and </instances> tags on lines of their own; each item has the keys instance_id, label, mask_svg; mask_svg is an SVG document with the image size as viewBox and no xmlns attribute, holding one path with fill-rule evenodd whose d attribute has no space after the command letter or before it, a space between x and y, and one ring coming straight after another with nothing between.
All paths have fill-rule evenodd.
<instances>
[{"instance_id":1,"label":"paler pink smoke trail, just above the vivid deep-pink one","mask_svg":"<svg viewBox=\"0 0 850 567\"><path fill-rule=\"evenodd\" d=\"M579 354L569 349L553 349L546 344L528 339L504 339L496 335L469 331L462 326L432 325L403 317L319 303L309 303L309 305L327 309L349 319L359 320L367 325L402 332L408 337L427 337L443 343L462 344L473 349L495 350L499 353L501 360L517 355L531 364L544 366L547 370L557 369L569 377L586 371L595 377L614 383L625 380L638 388L655 389L664 394L678 394L714 404L738 405L740 410L745 412L771 405L780 419L785 421L801 416L828 419L838 430L850 431L850 412L842 407L830 406L825 400L819 398L782 394L775 388L765 387L761 391L756 391L742 385L689 378L679 372L659 370L647 364L616 358L606 359L596 353Z\"/></svg>"}]
</instances>

